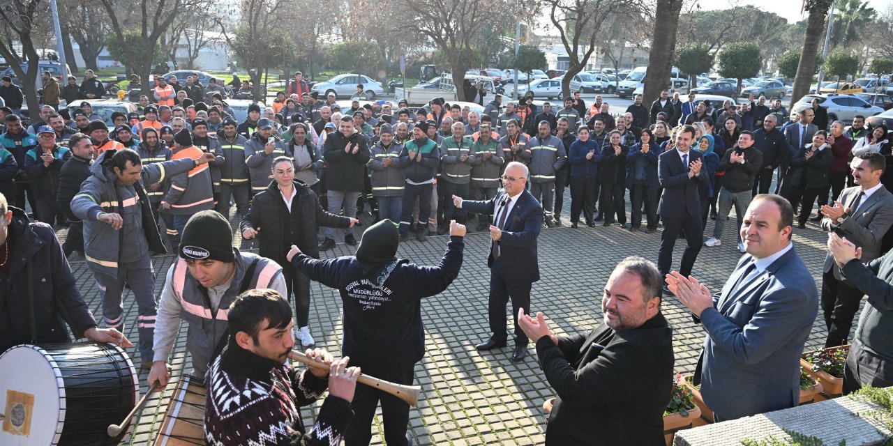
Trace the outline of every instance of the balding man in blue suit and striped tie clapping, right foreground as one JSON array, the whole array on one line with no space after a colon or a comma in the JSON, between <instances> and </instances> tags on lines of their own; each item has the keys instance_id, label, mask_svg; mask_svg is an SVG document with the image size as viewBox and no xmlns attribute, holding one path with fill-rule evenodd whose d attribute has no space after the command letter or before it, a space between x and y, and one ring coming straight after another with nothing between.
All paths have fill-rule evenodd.
<instances>
[{"instance_id":1,"label":"balding man in blue suit and striped tie clapping, right foreground","mask_svg":"<svg viewBox=\"0 0 893 446\"><path fill-rule=\"evenodd\" d=\"M695 369L716 422L797 406L800 355L818 313L818 292L790 235L794 210L760 194L747 208L747 254L713 296L696 278L673 271L673 294L707 332ZM697 320L697 319L696 319Z\"/></svg>"}]
</instances>

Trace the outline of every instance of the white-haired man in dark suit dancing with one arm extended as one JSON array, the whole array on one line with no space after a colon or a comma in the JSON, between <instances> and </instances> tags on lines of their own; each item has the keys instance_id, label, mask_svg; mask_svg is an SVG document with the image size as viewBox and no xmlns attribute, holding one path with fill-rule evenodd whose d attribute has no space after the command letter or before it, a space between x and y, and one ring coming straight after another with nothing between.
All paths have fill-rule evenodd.
<instances>
[{"instance_id":1,"label":"white-haired man in dark suit dancing with one arm extended","mask_svg":"<svg viewBox=\"0 0 893 446\"><path fill-rule=\"evenodd\" d=\"M493 335L475 346L479 351L506 345L505 303L512 301L514 352L512 362L527 355L527 336L518 327L518 310L530 313L530 286L539 280L537 237L543 222L543 207L527 191L527 166L512 161L502 176L505 188L486 202L463 200L453 195L456 208L476 214L493 214L490 226L490 295L488 312Z\"/></svg>"}]
</instances>

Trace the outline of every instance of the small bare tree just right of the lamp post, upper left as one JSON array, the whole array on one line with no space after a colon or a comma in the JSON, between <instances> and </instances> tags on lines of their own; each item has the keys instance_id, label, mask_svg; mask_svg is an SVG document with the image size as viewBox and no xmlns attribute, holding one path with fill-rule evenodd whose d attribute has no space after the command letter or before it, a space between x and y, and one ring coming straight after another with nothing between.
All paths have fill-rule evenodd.
<instances>
[{"instance_id":1,"label":"small bare tree just right of the lamp post, upper left","mask_svg":"<svg viewBox=\"0 0 893 446\"><path fill-rule=\"evenodd\" d=\"M96 60L105 48L105 35L111 30L102 4L88 0L64 0L59 4L59 20L78 42L80 57L88 70L96 70Z\"/></svg>"}]
</instances>

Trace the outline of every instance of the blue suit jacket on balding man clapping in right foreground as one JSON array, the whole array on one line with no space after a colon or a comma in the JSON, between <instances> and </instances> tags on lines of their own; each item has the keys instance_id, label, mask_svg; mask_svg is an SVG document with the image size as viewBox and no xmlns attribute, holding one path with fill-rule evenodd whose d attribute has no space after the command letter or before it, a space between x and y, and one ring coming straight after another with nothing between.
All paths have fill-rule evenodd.
<instances>
[{"instance_id":1,"label":"blue suit jacket on balding man clapping in right foreground","mask_svg":"<svg viewBox=\"0 0 893 446\"><path fill-rule=\"evenodd\" d=\"M819 310L813 275L794 248L732 288L745 254L701 313L701 394L723 420L788 409L800 401L800 355Z\"/></svg>"}]
</instances>

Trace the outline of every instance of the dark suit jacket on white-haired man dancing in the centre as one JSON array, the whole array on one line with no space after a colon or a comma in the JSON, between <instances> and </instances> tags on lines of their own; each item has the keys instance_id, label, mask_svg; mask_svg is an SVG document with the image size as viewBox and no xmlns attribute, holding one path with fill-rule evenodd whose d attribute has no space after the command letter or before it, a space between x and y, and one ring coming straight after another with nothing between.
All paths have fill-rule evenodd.
<instances>
[{"instance_id":1,"label":"dark suit jacket on white-haired man dancing in the centre","mask_svg":"<svg viewBox=\"0 0 893 446\"><path fill-rule=\"evenodd\" d=\"M500 189L495 197L486 202L463 200L462 209L476 214L493 214L493 218L496 219L494 206L504 198L508 198L505 189ZM496 222L493 224L496 225ZM529 281L532 284L538 281L537 237L542 226L543 207L525 189L505 218L503 235L497 242L499 259L493 257L493 244L490 244L487 266L494 268L499 262L500 268L511 271L513 280L517 282Z\"/></svg>"}]
</instances>

